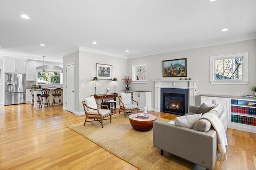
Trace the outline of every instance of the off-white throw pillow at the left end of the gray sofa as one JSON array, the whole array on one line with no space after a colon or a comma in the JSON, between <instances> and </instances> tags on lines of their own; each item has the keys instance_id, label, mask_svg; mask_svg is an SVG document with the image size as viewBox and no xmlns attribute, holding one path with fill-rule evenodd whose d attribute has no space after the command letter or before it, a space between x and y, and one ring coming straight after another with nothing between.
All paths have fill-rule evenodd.
<instances>
[{"instance_id":1,"label":"off-white throw pillow at the left end of the gray sofa","mask_svg":"<svg viewBox=\"0 0 256 170\"><path fill-rule=\"evenodd\" d=\"M202 114L180 116L175 118L175 125L192 129Z\"/></svg>"}]
</instances>

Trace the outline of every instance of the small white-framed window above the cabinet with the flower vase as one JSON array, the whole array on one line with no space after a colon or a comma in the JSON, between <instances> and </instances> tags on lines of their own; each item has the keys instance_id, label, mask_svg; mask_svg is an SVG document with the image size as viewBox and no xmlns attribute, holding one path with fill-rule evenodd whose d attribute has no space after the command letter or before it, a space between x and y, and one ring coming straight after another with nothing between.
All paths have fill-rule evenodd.
<instances>
[{"instance_id":1,"label":"small white-framed window above the cabinet with the flower vase","mask_svg":"<svg viewBox=\"0 0 256 170\"><path fill-rule=\"evenodd\" d=\"M147 83L147 64L132 65L132 81L133 83Z\"/></svg>"}]
</instances>

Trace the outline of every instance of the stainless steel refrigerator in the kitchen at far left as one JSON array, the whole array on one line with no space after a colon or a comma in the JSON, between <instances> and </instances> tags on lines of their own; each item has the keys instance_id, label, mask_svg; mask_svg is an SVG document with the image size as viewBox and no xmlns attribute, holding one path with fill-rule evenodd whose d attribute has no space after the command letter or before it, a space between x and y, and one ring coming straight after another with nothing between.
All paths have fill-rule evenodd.
<instances>
[{"instance_id":1,"label":"stainless steel refrigerator in the kitchen at far left","mask_svg":"<svg viewBox=\"0 0 256 170\"><path fill-rule=\"evenodd\" d=\"M4 105L26 103L26 74L5 73Z\"/></svg>"}]
</instances>

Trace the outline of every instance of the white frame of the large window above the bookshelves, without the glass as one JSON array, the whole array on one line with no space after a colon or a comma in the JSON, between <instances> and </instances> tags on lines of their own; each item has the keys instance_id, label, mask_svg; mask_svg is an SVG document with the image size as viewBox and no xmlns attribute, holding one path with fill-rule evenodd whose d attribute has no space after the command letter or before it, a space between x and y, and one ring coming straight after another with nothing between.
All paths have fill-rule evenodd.
<instances>
[{"instance_id":1,"label":"white frame of the large window above the bookshelves, without the glass","mask_svg":"<svg viewBox=\"0 0 256 170\"><path fill-rule=\"evenodd\" d=\"M221 59L232 59L232 58L242 58L242 80L216 80L215 79L215 61ZM211 84L248 84L248 53L236 53L228 55L217 55L210 56L210 83Z\"/></svg>"}]
</instances>

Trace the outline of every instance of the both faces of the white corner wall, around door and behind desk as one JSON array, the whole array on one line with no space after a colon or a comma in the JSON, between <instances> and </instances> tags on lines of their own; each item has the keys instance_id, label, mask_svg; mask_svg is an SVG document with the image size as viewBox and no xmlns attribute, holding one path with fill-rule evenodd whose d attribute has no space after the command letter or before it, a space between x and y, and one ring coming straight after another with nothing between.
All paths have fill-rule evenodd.
<instances>
[{"instance_id":1,"label":"both faces of the white corner wall, around door and behind desk","mask_svg":"<svg viewBox=\"0 0 256 170\"><path fill-rule=\"evenodd\" d=\"M127 73L127 59L112 57L108 55L101 55L96 53L89 53L85 51L76 51L63 57L63 68L66 70L67 63L75 63L75 113L83 114L84 108L82 101L84 98L95 94L95 83L92 79L96 76L96 63L112 65L112 76L116 77L116 92L120 93L124 88L122 78ZM66 87L66 71L63 74L63 86ZM82 87L82 84L84 85ZM114 92L114 82L112 80L100 79L96 82L97 94L105 94L105 88L110 88L110 93ZM66 108L66 89L63 91L63 107ZM101 103L101 100L97 101ZM119 103L116 103L119 105Z\"/></svg>"}]
</instances>

